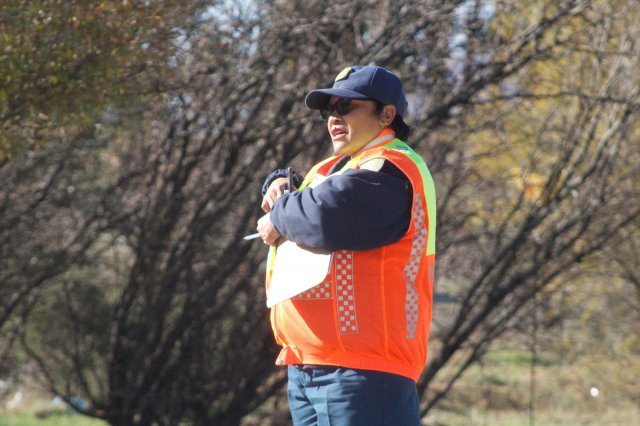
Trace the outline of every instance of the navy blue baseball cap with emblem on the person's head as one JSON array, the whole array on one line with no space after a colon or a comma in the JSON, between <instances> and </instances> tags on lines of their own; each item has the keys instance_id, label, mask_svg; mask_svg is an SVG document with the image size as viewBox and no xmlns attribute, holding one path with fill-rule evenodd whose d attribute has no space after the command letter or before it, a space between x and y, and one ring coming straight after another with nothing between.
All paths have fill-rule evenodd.
<instances>
[{"instance_id":1,"label":"navy blue baseball cap with emblem on the person's head","mask_svg":"<svg viewBox=\"0 0 640 426\"><path fill-rule=\"evenodd\" d=\"M391 71L376 66L354 65L343 69L329 89L316 89L307 94L304 102L311 109L320 109L329 103L331 96L344 99L375 100L396 107L396 113L404 117L407 98L402 82Z\"/></svg>"}]
</instances>

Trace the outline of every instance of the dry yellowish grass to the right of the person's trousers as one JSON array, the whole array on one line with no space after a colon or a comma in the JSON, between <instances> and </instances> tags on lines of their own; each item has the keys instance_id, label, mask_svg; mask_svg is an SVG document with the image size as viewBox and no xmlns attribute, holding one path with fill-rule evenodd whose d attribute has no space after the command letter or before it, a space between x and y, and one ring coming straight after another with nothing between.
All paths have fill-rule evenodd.
<instances>
[{"instance_id":1,"label":"dry yellowish grass to the right of the person's trousers","mask_svg":"<svg viewBox=\"0 0 640 426\"><path fill-rule=\"evenodd\" d=\"M424 423L640 426L640 404L627 386L640 379L640 372L629 371L620 382L603 374L620 369L616 359L600 360L598 368L593 367L584 360L565 363L543 356L532 376L527 352L494 352L483 365L467 372L450 398L432 410ZM592 388L597 388L597 396Z\"/></svg>"}]
</instances>

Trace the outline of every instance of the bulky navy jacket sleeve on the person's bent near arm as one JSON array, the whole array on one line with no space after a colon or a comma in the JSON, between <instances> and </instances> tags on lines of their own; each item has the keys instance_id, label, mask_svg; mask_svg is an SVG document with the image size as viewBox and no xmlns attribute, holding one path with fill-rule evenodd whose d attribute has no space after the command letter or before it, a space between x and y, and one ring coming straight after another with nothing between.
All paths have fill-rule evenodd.
<instances>
[{"instance_id":1,"label":"bulky navy jacket sleeve on the person's bent near arm","mask_svg":"<svg viewBox=\"0 0 640 426\"><path fill-rule=\"evenodd\" d=\"M412 197L407 177L386 161L380 171L347 170L280 197L271 221L287 240L308 247L370 250L404 236Z\"/></svg>"}]
</instances>

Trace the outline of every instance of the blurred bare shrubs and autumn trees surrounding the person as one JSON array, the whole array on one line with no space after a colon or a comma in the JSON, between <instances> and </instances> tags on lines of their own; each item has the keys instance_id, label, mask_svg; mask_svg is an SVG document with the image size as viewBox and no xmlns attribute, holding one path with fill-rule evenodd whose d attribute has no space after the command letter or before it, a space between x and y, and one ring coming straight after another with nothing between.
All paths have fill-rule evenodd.
<instances>
[{"instance_id":1,"label":"blurred bare shrubs and autumn trees surrounding the person","mask_svg":"<svg viewBox=\"0 0 640 426\"><path fill-rule=\"evenodd\" d=\"M3 0L0 424L289 424L242 236L375 64L438 194L424 424L639 425L639 44L637 0Z\"/></svg>"}]
</instances>

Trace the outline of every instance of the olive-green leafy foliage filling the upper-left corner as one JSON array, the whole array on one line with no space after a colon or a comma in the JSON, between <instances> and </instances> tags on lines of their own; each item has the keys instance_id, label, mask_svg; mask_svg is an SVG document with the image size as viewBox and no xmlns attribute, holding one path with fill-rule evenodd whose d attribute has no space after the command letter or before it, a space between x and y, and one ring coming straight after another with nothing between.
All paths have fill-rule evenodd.
<instances>
[{"instance_id":1,"label":"olive-green leafy foliage filling the upper-left corner","mask_svg":"<svg viewBox=\"0 0 640 426\"><path fill-rule=\"evenodd\" d=\"M143 90L170 53L174 1L7 0L0 4L0 165ZM50 130L49 130L50 131Z\"/></svg>"}]
</instances>

